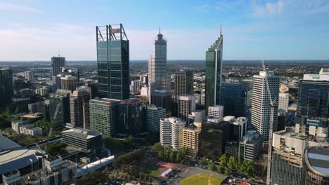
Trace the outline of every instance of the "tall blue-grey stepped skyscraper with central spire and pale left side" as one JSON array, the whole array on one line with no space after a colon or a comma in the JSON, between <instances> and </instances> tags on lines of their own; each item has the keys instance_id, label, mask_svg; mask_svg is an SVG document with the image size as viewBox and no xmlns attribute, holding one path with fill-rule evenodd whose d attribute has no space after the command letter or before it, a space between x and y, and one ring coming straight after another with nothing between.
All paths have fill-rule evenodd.
<instances>
[{"instance_id":1,"label":"tall blue-grey stepped skyscraper with central spire and pale left side","mask_svg":"<svg viewBox=\"0 0 329 185\"><path fill-rule=\"evenodd\" d=\"M148 60L148 87L150 95L154 90L169 90L167 40L160 30L153 41L152 56Z\"/></svg>"}]
</instances>

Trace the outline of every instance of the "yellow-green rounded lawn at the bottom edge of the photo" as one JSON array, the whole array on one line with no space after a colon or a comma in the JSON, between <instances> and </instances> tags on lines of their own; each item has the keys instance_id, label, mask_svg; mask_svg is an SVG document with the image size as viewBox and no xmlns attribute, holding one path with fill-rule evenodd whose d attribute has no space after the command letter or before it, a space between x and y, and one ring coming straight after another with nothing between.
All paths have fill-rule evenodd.
<instances>
[{"instance_id":1,"label":"yellow-green rounded lawn at the bottom edge of the photo","mask_svg":"<svg viewBox=\"0 0 329 185\"><path fill-rule=\"evenodd\" d=\"M218 185L223 179L212 174L195 174L181 180L181 185Z\"/></svg>"}]
</instances>

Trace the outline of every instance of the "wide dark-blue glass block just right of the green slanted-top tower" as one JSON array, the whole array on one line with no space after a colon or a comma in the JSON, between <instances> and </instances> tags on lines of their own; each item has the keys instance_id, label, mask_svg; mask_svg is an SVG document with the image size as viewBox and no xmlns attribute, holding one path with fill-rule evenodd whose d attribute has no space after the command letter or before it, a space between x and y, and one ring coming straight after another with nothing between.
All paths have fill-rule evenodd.
<instances>
[{"instance_id":1,"label":"wide dark-blue glass block just right of the green slanted-top tower","mask_svg":"<svg viewBox=\"0 0 329 185\"><path fill-rule=\"evenodd\" d=\"M247 89L239 83L222 83L220 104L224 106L224 116L245 116Z\"/></svg>"}]
</instances>

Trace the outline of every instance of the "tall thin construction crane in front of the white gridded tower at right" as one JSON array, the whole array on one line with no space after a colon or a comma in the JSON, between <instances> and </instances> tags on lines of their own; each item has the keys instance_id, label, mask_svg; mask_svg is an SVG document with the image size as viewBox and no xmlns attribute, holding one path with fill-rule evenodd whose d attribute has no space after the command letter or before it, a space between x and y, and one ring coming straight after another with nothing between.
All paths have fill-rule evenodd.
<instances>
[{"instance_id":1,"label":"tall thin construction crane in front of the white gridded tower at right","mask_svg":"<svg viewBox=\"0 0 329 185\"><path fill-rule=\"evenodd\" d=\"M264 64L264 60L262 60L262 67L263 71L266 73L266 67ZM278 107L278 104L276 100L273 100L272 95L271 95L271 90L269 88L269 79L268 79L268 74L265 74L265 83L266 83L266 90L269 95L269 100L271 104L271 118L270 118L270 123L269 123L269 146L268 146L268 156L267 156L267 179L266 179L266 184L271 184L271 160L272 160L272 140L273 140L273 122L274 122L274 113L276 110L276 107Z\"/></svg>"}]
</instances>

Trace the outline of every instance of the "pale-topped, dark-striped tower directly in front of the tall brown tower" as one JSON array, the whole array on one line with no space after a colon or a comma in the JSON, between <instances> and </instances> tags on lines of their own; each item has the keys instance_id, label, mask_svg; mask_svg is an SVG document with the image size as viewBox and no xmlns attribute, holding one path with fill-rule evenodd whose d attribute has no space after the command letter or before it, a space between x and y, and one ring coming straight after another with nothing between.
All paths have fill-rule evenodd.
<instances>
[{"instance_id":1,"label":"pale-topped, dark-striped tower directly in front of the tall brown tower","mask_svg":"<svg viewBox=\"0 0 329 185\"><path fill-rule=\"evenodd\" d=\"M188 115L195 111L195 97L194 95L179 95L177 107L177 115L186 122L186 126L190 125Z\"/></svg>"}]
</instances>

